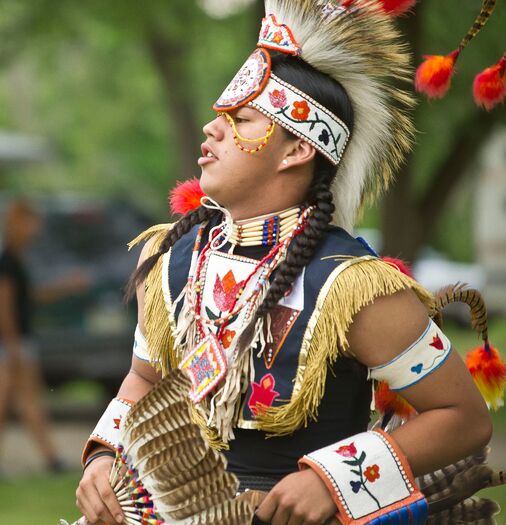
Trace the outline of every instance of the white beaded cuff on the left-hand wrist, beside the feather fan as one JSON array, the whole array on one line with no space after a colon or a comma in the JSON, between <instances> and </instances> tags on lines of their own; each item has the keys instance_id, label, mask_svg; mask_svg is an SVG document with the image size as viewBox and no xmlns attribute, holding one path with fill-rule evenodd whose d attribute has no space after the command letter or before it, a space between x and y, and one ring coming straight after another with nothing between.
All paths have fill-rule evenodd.
<instances>
[{"instance_id":1,"label":"white beaded cuff on the left-hand wrist, beside the feather fan","mask_svg":"<svg viewBox=\"0 0 506 525\"><path fill-rule=\"evenodd\" d=\"M81 463L84 465L91 450L95 445L102 445L116 450L119 443L119 427L121 420L126 416L133 402L120 397L115 397L106 408L97 426L91 433L84 446Z\"/></svg>"}]
</instances>

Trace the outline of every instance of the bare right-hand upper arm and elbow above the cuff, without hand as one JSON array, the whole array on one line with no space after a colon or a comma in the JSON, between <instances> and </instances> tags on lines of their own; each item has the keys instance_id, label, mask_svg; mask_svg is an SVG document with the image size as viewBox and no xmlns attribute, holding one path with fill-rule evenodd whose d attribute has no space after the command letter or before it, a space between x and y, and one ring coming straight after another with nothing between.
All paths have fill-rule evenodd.
<instances>
[{"instance_id":1,"label":"bare right-hand upper arm and elbow above the cuff, without hand","mask_svg":"<svg viewBox=\"0 0 506 525\"><path fill-rule=\"evenodd\" d=\"M425 307L411 290L378 298L355 316L348 336L350 349L368 367L382 365L416 341L427 322ZM490 440L487 406L455 350L439 368L401 394L419 415L392 432L392 437L415 475L453 463Z\"/></svg>"}]
</instances>

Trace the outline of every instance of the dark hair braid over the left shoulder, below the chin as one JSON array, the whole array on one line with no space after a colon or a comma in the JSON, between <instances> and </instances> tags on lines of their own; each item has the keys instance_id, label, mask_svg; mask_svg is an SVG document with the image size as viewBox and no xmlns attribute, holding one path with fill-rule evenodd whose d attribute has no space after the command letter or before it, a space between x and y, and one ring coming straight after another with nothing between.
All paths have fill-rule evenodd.
<instances>
[{"instance_id":1,"label":"dark hair braid over the left shoulder, below the chin","mask_svg":"<svg viewBox=\"0 0 506 525\"><path fill-rule=\"evenodd\" d=\"M199 206L194 210L189 211L186 215L181 217L172 228L169 229L167 235L160 243L158 251L145 259L142 264L131 275L126 286L126 299L129 300L134 297L137 287L146 280L151 270L155 267L158 259L169 251L174 244L186 233L188 233L194 226L204 221L211 220L215 215L221 213L217 210L210 210L204 206Z\"/></svg>"}]
</instances>

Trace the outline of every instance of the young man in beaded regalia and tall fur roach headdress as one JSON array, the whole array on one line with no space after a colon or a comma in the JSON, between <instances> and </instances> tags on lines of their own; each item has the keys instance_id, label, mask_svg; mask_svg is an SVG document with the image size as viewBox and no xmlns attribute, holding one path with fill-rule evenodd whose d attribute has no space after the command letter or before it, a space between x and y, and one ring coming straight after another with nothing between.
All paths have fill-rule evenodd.
<instances>
[{"instance_id":1,"label":"young man in beaded regalia and tall fur roach headdress","mask_svg":"<svg viewBox=\"0 0 506 525\"><path fill-rule=\"evenodd\" d=\"M392 512L423 523L411 471L489 440L487 407L430 319L431 295L347 233L412 139L411 98L392 84L408 75L392 21L376 1L266 11L259 48L204 127L207 198L142 237L132 369L77 490L93 523L122 521L108 484L113 421L172 367L192 376L195 418L242 489L269 492L257 516L273 525ZM368 378L419 415L365 432Z\"/></svg>"}]
</instances>

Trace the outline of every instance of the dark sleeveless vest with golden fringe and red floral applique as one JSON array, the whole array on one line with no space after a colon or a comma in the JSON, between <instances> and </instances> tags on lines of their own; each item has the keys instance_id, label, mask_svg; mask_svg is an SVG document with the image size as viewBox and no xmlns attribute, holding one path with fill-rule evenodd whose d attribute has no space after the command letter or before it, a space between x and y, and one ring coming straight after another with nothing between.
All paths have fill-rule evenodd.
<instances>
[{"instance_id":1,"label":"dark sleeveless vest with golden fringe and red floral applique","mask_svg":"<svg viewBox=\"0 0 506 525\"><path fill-rule=\"evenodd\" d=\"M154 227L137 242L153 237L151 249L155 253L167 228ZM180 366L184 359L174 346L173 330L181 318L181 305L174 307L173 301L187 285L199 229L193 228L165 254L146 283L147 348L153 363L169 364L164 368ZM206 234L209 230L206 228ZM211 292L206 295L204 285L203 305L208 313L216 312L216 299L220 300L216 283L225 276L233 277L232 284L238 282L241 265L256 262L250 258L251 249L235 251L241 253L230 254L229 245L224 245L210 258L205 279ZM258 258L262 253L257 250L256 255ZM213 264L213 256L220 264ZM408 288L431 313L431 294L381 261L363 242L341 228L329 228L291 293L274 310L271 342L251 352L252 366L241 381L245 386L232 412L229 439L223 439L213 427L216 409L212 414L212 403L204 399L194 405L194 418L210 442L228 448L228 469L239 477L243 489L268 490L296 471L298 460L308 451L367 430L371 382L366 367L350 356L346 334L363 306ZM227 389L227 380L218 386L218 392ZM211 392L209 397L213 395L218 394ZM411 497L416 510L419 498L406 496L407 500Z\"/></svg>"}]
</instances>

